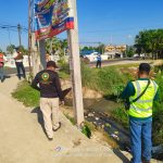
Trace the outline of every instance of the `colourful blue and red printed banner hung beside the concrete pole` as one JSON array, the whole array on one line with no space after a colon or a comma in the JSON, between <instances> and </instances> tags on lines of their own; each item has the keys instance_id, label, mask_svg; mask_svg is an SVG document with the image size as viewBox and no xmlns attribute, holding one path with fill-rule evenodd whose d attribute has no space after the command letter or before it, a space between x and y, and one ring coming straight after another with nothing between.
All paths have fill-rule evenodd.
<instances>
[{"instance_id":1,"label":"colourful blue and red printed banner hung beside the concrete pole","mask_svg":"<svg viewBox=\"0 0 163 163\"><path fill-rule=\"evenodd\" d=\"M35 34L41 40L74 28L70 0L35 0Z\"/></svg>"}]
</instances>

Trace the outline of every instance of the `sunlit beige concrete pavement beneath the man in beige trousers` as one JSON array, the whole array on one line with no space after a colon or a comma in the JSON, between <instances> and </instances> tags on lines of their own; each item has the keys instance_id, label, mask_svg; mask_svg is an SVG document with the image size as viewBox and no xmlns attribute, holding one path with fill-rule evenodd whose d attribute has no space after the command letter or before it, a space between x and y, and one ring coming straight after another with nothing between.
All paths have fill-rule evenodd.
<instances>
[{"instance_id":1,"label":"sunlit beige concrete pavement beneath the man in beige trousers","mask_svg":"<svg viewBox=\"0 0 163 163\"><path fill-rule=\"evenodd\" d=\"M62 128L49 141L38 109L25 108L11 97L18 79L0 83L0 163L122 163L105 146L86 138L61 114Z\"/></svg>"}]
</instances>

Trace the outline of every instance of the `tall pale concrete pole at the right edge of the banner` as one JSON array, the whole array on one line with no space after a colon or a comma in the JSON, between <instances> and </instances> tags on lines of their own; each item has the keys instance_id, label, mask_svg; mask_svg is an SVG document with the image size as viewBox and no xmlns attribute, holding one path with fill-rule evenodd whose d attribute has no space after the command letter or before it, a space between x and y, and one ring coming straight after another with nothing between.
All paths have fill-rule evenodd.
<instances>
[{"instance_id":1,"label":"tall pale concrete pole at the right edge of the banner","mask_svg":"<svg viewBox=\"0 0 163 163\"><path fill-rule=\"evenodd\" d=\"M82 91L80 60L79 60L78 24L77 24L76 0L72 0L71 2L75 28L67 30L68 48L71 53L70 66L73 86L73 103L74 103L75 120L77 126L80 127L82 123L84 122L84 104Z\"/></svg>"}]
</instances>

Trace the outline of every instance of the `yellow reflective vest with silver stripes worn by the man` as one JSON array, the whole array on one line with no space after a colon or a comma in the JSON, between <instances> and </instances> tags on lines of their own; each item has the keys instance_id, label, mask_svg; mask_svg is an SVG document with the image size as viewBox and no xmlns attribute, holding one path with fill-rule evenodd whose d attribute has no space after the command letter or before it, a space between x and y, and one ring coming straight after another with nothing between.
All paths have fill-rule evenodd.
<instances>
[{"instance_id":1,"label":"yellow reflective vest with silver stripes worn by the man","mask_svg":"<svg viewBox=\"0 0 163 163\"><path fill-rule=\"evenodd\" d=\"M133 82L136 93L129 98L129 101L135 100L146 89L148 80L136 80ZM152 116L153 99L156 95L159 86L154 80L151 80L145 95L139 98L136 102L130 103L128 114L133 117L146 118Z\"/></svg>"}]
</instances>

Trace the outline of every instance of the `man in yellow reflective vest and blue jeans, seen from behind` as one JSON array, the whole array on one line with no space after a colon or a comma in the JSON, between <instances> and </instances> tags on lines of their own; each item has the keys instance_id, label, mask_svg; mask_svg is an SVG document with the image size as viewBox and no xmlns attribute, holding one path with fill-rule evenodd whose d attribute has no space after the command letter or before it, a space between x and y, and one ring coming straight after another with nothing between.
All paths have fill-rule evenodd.
<instances>
[{"instance_id":1,"label":"man in yellow reflective vest and blue jeans, seen from behind","mask_svg":"<svg viewBox=\"0 0 163 163\"><path fill-rule=\"evenodd\" d=\"M129 82L122 93L127 99L133 163L150 163L152 151L152 108L159 98L159 86L150 79L150 65L141 63L138 79Z\"/></svg>"}]
</instances>

